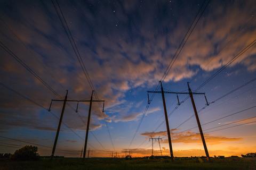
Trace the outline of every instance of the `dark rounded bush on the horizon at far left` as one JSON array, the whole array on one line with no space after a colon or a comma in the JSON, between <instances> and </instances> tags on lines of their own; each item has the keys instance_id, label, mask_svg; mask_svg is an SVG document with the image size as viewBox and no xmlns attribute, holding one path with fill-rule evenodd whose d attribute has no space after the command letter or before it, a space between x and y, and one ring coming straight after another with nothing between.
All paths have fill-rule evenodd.
<instances>
[{"instance_id":1,"label":"dark rounded bush on the horizon at far left","mask_svg":"<svg viewBox=\"0 0 256 170\"><path fill-rule=\"evenodd\" d=\"M14 152L11 157L12 160L38 160L39 154L37 153L37 147L25 146Z\"/></svg>"}]
</instances>

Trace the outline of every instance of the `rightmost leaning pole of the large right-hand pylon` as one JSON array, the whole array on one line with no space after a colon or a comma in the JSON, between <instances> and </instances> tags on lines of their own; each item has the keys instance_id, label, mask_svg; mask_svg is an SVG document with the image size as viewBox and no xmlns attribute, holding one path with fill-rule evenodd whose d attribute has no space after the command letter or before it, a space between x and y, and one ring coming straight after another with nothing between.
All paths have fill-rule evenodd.
<instances>
[{"instance_id":1,"label":"rightmost leaning pole of the large right-hand pylon","mask_svg":"<svg viewBox=\"0 0 256 170\"><path fill-rule=\"evenodd\" d=\"M205 139L204 139L204 133L203 133L203 130L202 130L202 127L201 127L201 123L200 123L198 114L197 114L197 109L196 109L195 101L194 101L194 98L193 98L193 92L191 91L191 89L189 87L189 82L188 82L188 92L189 92L191 103L193 105L193 109L194 109L194 112L195 112L196 122L197 122L198 129L199 129L199 132L200 132L200 135L201 135L201 139L202 139L202 142L203 142L203 145L204 145L205 155L207 157L207 160L210 160L209 152L208 152L206 142L205 142ZM208 104L206 97L205 97L205 100L206 100L206 103Z\"/></svg>"}]
</instances>

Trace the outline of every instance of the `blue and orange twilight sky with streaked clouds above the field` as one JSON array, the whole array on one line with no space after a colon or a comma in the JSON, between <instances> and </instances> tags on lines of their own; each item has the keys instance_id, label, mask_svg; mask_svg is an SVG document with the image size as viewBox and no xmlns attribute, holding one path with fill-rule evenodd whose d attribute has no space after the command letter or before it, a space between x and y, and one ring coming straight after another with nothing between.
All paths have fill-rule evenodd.
<instances>
[{"instance_id":1,"label":"blue and orange twilight sky with streaked clouds above the field","mask_svg":"<svg viewBox=\"0 0 256 170\"><path fill-rule=\"evenodd\" d=\"M92 89L51 1L0 4L0 152L14 152L27 141L38 146L40 155L50 155L63 105L53 102L48 112L51 99L63 99L66 90L68 99L90 99ZM188 92L190 82L195 92L241 54L198 90L205 92L209 106L204 95L194 99L210 156L255 152L256 48L246 48L256 37L255 1L58 4L94 90L105 100L105 113L102 104L92 104L90 156L117 152L123 157L123 149L131 149L133 156L150 156L150 137L162 138L163 155L170 154L162 96L155 94L145 113L147 91L162 80L202 4L205 10L167 72L163 88ZM180 101L186 97L179 95ZM173 94L165 94L165 99L174 156L204 156L190 98L181 105ZM76 103L66 106L55 155L81 156L89 103L79 103L78 113L75 108ZM154 141L154 155L160 154Z\"/></svg>"}]
</instances>

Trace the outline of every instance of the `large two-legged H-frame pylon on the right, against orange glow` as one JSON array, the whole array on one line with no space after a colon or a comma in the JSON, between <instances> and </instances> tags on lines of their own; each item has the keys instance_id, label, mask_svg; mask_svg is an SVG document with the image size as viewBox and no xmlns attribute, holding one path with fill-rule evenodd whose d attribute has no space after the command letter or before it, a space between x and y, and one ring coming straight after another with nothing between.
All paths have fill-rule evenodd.
<instances>
[{"instance_id":1,"label":"large two-legged H-frame pylon on the right, against orange glow","mask_svg":"<svg viewBox=\"0 0 256 170\"><path fill-rule=\"evenodd\" d=\"M208 150L207 150L207 147L206 147L205 139L204 139L204 134L203 134L203 131L202 131L202 128L201 128L201 124L200 124L200 121L199 121L199 117L198 117L198 114L197 114L195 101L194 101L194 98L193 98L193 95L204 95L205 100L206 100L206 105L209 105L209 103L208 103L208 101L207 101L207 99L206 99L205 93L192 92L191 89L190 89L190 87L189 87L189 83L188 83L188 92L164 91L164 90L163 90L163 86L162 86L162 82L159 81L159 83L161 84L161 91L147 91L147 92L148 92L148 93L162 94L163 106L164 106L164 115L165 115L165 122L166 122L166 129L167 129L167 135L168 135L168 141L169 141L169 148L170 148L170 154L171 154L172 160L173 160L172 142L171 142L171 134L170 134L170 129L169 129L169 121L168 121L168 116L167 116L167 111L166 111L166 104L165 104L164 94L176 94L176 95L177 95L177 100L178 100L178 105L180 105L180 100L179 100L178 94L181 94L181 95L189 95L189 96L190 96L190 98L191 98L191 103L192 103L192 105L193 105L194 112L195 112L195 116L196 116L196 120L197 120L197 125L198 125L198 128L199 128L200 134L201 134L201 138L202 138L203 145L204 145L205 154L206 154L207 159L210 159L210 156L209 156L209 153L208 153ZM148 103L150 103L150 101L149 101L149 95L148 95Z\"/></svg>"}]
</instances>

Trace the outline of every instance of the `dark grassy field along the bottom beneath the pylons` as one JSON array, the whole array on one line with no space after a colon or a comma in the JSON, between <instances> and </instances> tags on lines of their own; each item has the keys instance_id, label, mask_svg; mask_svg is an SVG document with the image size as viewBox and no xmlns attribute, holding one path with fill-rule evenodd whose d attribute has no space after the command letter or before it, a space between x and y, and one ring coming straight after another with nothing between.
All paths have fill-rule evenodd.
<instances>
[{"instance_id":1,"label":"dark grassy field along the bottom beneath the pylons","mask_svg":"<svg viewBox=\"0 0 256 170\"><path fill-rule=\"evenodd\" d=\"M169 159L110 159L89 158L83 161L78 158L41 158L34 162L13 162L0 160L0 169L256 169L256 158L202 159L176 158Z\"/></svg>"}]
</instances>

